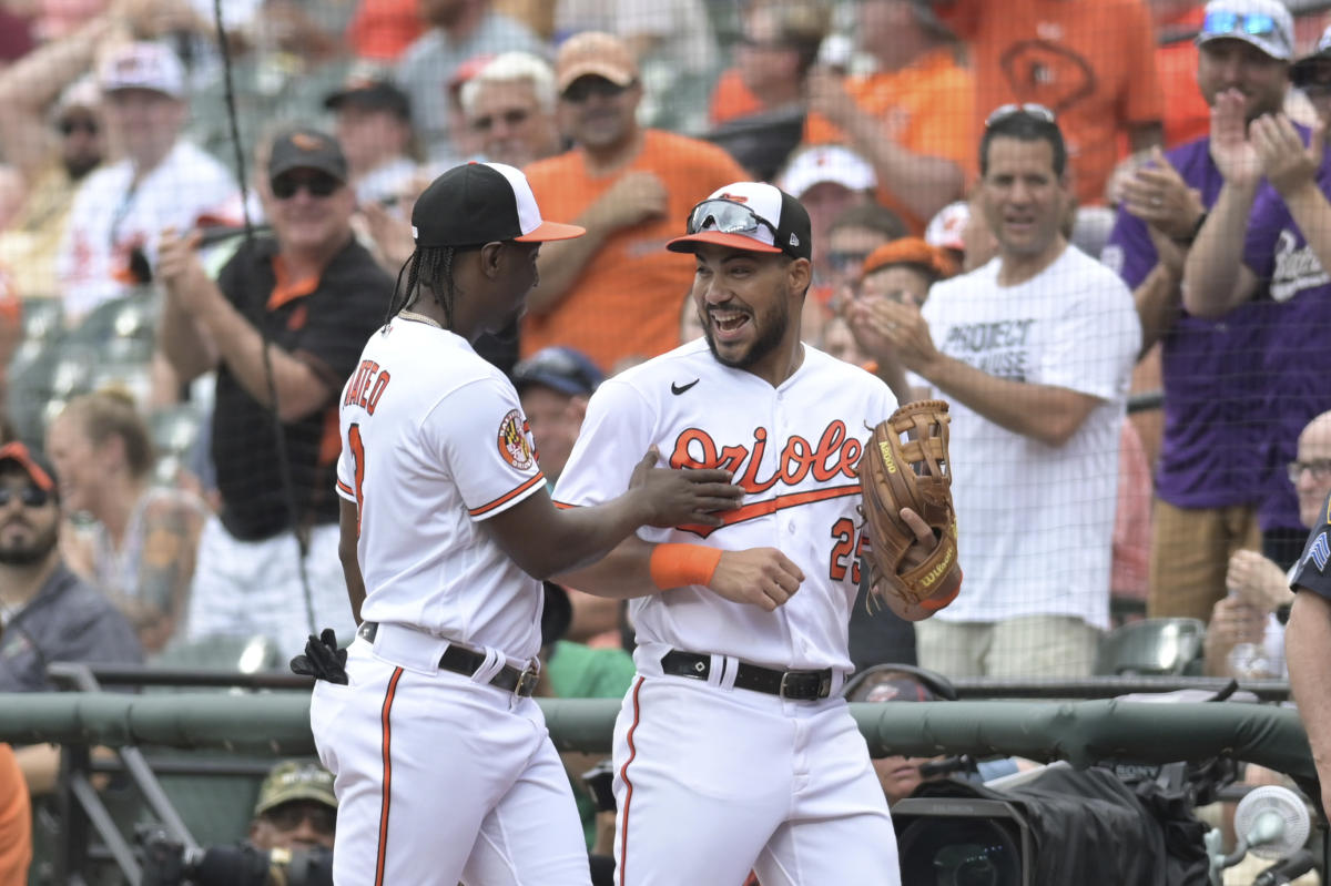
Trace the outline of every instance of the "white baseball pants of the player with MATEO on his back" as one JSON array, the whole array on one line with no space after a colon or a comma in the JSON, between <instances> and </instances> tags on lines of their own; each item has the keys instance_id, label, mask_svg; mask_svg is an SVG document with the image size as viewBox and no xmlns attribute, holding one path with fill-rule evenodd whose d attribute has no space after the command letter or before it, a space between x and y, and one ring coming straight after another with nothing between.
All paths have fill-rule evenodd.
<instances>
[{"instance_id":1,"label":"white baseball pants of the player with MATEO on his back","mask_svg":"<svg viewBox=\"0 0 1331 886\"><path fill-rule=\"evenodd\" d=\"M486 685L494 670L465 677L429 652L378 645L358 637L349 685L321 680L310 701L338 797L334 883L588 886L568 776L536 702ZM437 665L442 641L422 645Z\"/></svg>"}]
</instances>

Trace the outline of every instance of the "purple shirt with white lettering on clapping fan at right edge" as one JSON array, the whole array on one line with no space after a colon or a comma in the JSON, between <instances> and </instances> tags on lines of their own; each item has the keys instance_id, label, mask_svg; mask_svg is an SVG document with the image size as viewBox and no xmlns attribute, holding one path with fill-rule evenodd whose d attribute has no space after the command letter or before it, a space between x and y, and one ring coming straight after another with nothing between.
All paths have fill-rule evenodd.
<instances>
[{"instance_id":1,"label":"purple shirt with white lettering on clapping fan at right edge","mask_svg":"<svg viewBox=\"0 0 1331 886\"><path fill-rule=\"evenodd\" d=\"M1318 188L1331 194L1331 153L1322 157ZM1303 427L1331 410L1331 275L1271 188L1263 188L1252 206L1243 262L1264 282L1256 303L1266 303L1271 318L1259 367L1267 388L1260 416L1270 442L1258 517L1263 529L1302 529L1284 466L1295 459Z\"/></svg>"}]
</instances>

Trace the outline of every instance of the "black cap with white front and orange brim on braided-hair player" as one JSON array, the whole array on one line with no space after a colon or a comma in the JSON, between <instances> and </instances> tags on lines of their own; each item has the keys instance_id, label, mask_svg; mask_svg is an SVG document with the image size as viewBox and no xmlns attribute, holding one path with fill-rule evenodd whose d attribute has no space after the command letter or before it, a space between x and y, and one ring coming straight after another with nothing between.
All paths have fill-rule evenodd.
<instances>
[{"instance_id":1,"label":"black cap with white front and orange brim on braided-hair player","mask_svg":"<svg viewBox=\"0 0 1331 886\"><path fill-rule=\"evenodd\" d=\"M527 177L506 164L454 166L430 182L411 210L418 247L483 246L504 239L534 243L586 233L578 225L542 220Z\"/></svg>"}]
</instances>

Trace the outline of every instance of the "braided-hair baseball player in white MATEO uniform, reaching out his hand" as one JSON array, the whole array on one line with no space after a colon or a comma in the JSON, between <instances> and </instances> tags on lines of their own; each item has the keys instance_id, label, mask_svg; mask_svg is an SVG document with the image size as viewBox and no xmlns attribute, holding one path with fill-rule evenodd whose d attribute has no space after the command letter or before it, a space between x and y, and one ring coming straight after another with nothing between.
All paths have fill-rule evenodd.
<instances>
[{"instance_id":1,"label":"braided-hair baseball player in white MATEO uniform, reaching out his hand","mask_svg":"<svg viewBox=\"0 0 1331 886\"><path fill-rule=\"evenodd\" d=\"M516 391L469 339L522 310L542 241L582 229L543 222L526 177L499 164L441 176L413 225L406 305L341 400L342 559L361 627L310 706L335 776L334 879L586 886L568 778L530 697L538 577L644 523L719 524L709 511L740 490L724 471L651 470L650 452L607 507L558 511Z\"/></svg>"}]
</instances>

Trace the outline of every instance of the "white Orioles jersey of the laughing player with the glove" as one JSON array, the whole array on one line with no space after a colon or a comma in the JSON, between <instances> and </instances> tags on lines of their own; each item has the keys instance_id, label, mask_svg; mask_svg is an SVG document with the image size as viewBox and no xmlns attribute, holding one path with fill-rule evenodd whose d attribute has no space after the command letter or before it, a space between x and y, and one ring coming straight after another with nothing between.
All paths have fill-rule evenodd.
<instances>
[{"instance_id":1,"label":"white Orioles jersey of the laughing player with the glove","mask_svg":"<svg viewBox=\"0 0 1331 886\"><path fill-rule=\"evenodd\" d=\"M555 499L590 506L615 498L651 444L675 467L733 471L747 495L724 525L644 527L639 536L725 551L773 547L804 571L804 584L775 612L703 587L632 600L639 647L848 670L862 544L856 464L870 428L894 408L881 380L813 347L804 346L804 362L773 388L719 363L697 339L596 390Z\"/></svg>"}]
</instances>

